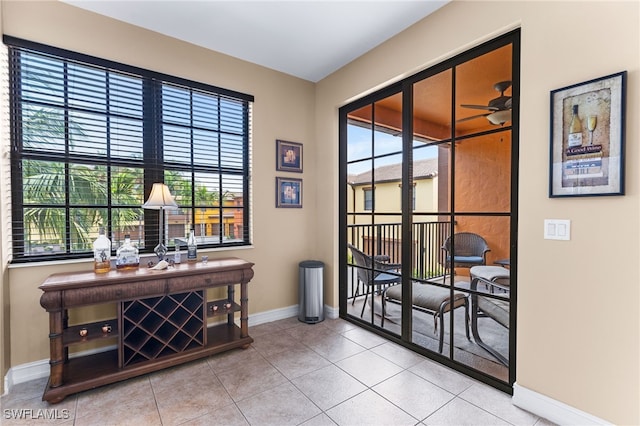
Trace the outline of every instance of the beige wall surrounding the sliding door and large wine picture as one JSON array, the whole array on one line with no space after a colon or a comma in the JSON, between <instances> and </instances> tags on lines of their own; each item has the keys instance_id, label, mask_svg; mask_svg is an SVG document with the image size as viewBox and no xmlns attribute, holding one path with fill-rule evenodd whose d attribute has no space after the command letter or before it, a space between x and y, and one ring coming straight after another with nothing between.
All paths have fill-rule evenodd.
<instances>
[{"instance_id":1,"label":"beige wall surrounding the sliding door and large wine picture","mask_svg":"<svg viewBox=\"0 0 640 426\"><path fill-rule=\"evenodd\" d=\"M522 28L517 383L615 424L640 424L639 8L455 1L316 87L317 158L331 183L318 188L317 229L338 235L337 108ZM549 92L622 70L627 195L548 198ZM544 240L545 218L570 219L571 241ZM336 253L337 240L325 238L321 257Z\"/></svg>"}]
</instances>

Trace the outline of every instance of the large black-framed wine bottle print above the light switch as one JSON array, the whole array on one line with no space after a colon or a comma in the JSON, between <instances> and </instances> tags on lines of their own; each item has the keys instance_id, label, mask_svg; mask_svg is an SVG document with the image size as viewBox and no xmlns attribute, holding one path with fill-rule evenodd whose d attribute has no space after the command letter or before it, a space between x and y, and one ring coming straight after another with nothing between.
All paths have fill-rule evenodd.
<instances>
[{"instance_id":1,"label":"large black-framed wine bottle print above the light switch","mask_svg":"<svg viewBox=\"0 0 640 426\"><path fill-rule=\"evenodd\" d=\"M551 91L549 197L624 195L626 79Z\"/></svg>"}]
</instances>

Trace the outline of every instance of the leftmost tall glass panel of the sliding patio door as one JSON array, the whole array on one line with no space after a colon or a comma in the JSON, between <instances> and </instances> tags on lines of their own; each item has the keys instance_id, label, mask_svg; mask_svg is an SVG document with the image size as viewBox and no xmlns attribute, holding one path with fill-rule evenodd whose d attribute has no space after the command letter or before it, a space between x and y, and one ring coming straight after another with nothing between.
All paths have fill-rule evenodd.
<instances>
[{"instance_id":1,"label":"leftmost tall glass panel of the sliding patio door","mask_svg":"<svg viewBox=\"0 0 640 426\"><path fill-rule=\"evenodd\" d=\"M382 292L401 281L402 97L349 113L347 127L347 312L382 323Z\"/></svg>"}]
</instances>

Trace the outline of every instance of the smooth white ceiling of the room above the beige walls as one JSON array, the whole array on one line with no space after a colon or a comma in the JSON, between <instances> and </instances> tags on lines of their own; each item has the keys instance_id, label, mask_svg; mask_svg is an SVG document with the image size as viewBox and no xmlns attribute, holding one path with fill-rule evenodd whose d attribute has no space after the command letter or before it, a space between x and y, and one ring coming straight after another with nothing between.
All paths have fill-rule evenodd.
<instances>
[{"instance_id":1,"label":"smooth white ceiling of the room above the beige walls","mask_svg":"<svg viewBox=\"0 0 640 426\"><path fill-rule=\"evenodd\" d=\"M62 0L317 82L449 0Z\"/></svg>"}]
</instances>

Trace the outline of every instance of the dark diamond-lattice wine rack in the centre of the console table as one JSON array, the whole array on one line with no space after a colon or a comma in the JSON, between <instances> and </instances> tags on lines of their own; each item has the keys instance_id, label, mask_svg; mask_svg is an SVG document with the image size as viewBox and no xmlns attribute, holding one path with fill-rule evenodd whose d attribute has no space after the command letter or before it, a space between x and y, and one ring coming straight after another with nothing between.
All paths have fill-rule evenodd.
<instances>
[{"instance_id":1,"label":"dark diamond-lattice wine rack in the centre of the console table","mask_svg":"<svg viewBox=\"0 0 640 426\"><path fill-rule=\"evenodd\" d=\"M204 292L122 302L121 367L205 345Z\"/></svg>"}]
</instances>

